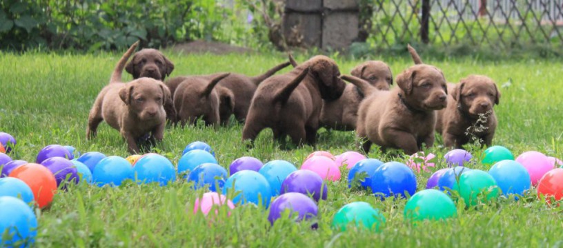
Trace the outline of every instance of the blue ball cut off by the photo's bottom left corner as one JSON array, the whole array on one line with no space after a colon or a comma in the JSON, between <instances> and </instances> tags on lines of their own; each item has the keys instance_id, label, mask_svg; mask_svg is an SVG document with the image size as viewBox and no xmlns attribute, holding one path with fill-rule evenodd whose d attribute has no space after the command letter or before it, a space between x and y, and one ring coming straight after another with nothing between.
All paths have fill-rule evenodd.
<instances>
[{"instance_id":1,"label":"blue ball cut off by the photo's bottom left corner","mask_svg":"<svg viewBox=\"0 0 563 248\"><path fill-rule=\"evenodd\" d=\"M37 217L30 206L13 196L0 196L0 234L8 229L7 239L0 235L0 247L32 246L37 236ZM22 244L23 243L23 244Z\"/></svg>"}]
</instances>

